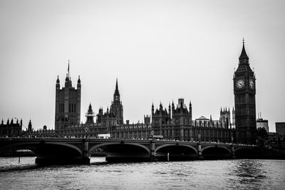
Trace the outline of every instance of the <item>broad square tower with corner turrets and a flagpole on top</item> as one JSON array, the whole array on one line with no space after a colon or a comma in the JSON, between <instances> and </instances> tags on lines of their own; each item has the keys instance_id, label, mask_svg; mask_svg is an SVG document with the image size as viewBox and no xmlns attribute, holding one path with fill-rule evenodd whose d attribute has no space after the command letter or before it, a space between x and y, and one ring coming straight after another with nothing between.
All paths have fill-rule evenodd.
<instances>
[{"instance_id":1,"label":"broad square tower with corner turrets and a flagpole on top","mask_svg":"<svg viewBox=\"0 0 285 190\"><path fill-rule=\"evenodd\" d=\"M66 83L61 88L59 78L56 80L56 118L55 130L58 134L69 125L79 125L81 121L81 80L78 76L77 89L72 86L71 77L66 74Z\"/></svg>"}]
</instances>

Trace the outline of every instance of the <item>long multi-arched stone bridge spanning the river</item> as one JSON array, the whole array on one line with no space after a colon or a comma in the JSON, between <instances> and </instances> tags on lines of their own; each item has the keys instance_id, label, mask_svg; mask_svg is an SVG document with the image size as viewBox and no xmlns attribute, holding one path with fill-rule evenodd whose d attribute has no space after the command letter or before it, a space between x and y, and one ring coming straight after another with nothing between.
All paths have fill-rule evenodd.
<instances>
[{"instance_id":1,"label":"long multi-arched stone bridge spanning the river","mask_svg":"<svg viewBox=\"0 0 285 190\"><path fill-rule=\"evenodd\" d=\"M36 164L90 164L90 153L103 149L108 162L147 162L244 158L255 146L155 139L0 138L0 152L29 149Z\"/></svg>"}]
</instances>

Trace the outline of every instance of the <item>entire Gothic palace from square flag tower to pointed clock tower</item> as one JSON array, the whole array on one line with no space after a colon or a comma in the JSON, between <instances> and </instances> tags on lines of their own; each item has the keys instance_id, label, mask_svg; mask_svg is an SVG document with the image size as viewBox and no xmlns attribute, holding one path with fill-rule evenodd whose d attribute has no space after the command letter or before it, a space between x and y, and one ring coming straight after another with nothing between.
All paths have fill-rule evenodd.
<instances>
[{"instance_id":1,"label":"entire Gothic palace from square flag tower to pointed clock tower","mask_svg":"<svg viewBox=\"0 0 285 190\"><path fill-rule=\"evenodd\" d=\"M163 139L255 144L255 75L249 66L244 42L233 80L235 110L232 110L232 120L229 108L221 108L219 120L212 120L212 116L209 119L199 117L193 120L192 103L187 105L180 98L176 105L172 101L171 105L164 107L160 102L155 109L152 104L151 115L145 115L144 122L124 122L117 79L110 109L107 108L104 112L100 107L95 115L92 105L89 105L86 122L83 124L80 123L81 80L78 77L77 88L74 88L68 63L64 87L61 88L59 78L56 80L55 132L58 136L69 137L98 137L100 134L109 134L111 138L147 139L156 135Z\"/></svg>"}]
</instances>

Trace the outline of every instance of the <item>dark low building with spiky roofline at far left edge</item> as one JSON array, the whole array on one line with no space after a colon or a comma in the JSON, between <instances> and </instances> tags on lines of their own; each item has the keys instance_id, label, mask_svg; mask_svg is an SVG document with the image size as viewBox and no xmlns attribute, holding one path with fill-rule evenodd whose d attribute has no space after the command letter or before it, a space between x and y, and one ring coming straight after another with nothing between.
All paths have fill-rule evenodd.
<instances>
[{"instance_id":1,"label":"dark low building with spiky roofline at far left edge","mask_svg":"<svg viewBox=\"0 0 285 190\"><path fill-rule=\"evenodd\" d=\"M19 137L22 134L22 120L19 121L16 120L16 123L13 119L11 119L11 122L9 119L7 120L6 124L4 124L4 121L2 119L1 125L0 125L0 137Z\"/></svg>"}]
</instances>

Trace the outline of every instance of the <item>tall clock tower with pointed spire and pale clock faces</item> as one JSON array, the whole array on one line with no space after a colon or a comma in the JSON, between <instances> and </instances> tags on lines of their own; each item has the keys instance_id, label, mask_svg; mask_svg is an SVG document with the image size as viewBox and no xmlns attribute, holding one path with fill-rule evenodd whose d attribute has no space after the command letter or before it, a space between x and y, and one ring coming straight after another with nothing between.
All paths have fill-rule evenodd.
<instances>
[{"instance_id":1,"label":"tall clock tower with pointed spire and pale clock faces","mask_svg":"<svg viewBox=\"0 0 285 190\"><path fill-rule=\"evenodd\" d=\"M257 139L255 75L249 66L249 57L242 46L239 66L234 72L234 107L236 142L255 144Z\"/></svg>"}]
</instances>

